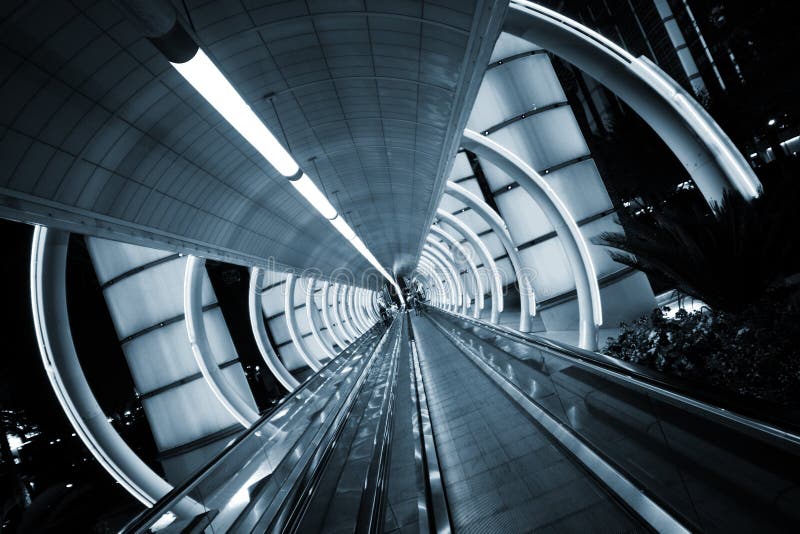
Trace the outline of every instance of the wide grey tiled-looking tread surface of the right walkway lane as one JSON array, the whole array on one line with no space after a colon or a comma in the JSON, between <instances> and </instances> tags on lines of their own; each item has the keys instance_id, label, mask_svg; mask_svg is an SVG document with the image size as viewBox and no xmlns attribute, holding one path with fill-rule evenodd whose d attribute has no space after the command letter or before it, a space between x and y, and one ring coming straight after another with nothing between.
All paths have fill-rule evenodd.
<instances>
[{"instance_id":1,"label":"wide grey tiled-looking tread surface of the right walkway lane","mask_svg":"<svg viewBox=\"0 0 800 534\"><path fill-rule=\"evenodd\" d=\"M429 319L413 327L456 532L639 531Z\"/></svg>"}]
</instances>

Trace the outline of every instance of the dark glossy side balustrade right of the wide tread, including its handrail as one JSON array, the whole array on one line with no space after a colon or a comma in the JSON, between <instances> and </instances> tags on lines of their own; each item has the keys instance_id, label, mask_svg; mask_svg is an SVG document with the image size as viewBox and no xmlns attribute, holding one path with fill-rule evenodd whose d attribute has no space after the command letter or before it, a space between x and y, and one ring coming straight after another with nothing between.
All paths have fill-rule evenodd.
<instances>
[{"instance_id":1,"label":"dark glossy side balustrade right of the wide tread, including its handrail","mask_svg":"<svg viewBox=\"0 0 800 534\"><path fill-rule=\"evenodd\" d=\"M432 314L460 348L483 359L690 530L787 532L800 522L800 462L773 438L758 439L757 431L737 429L680 394L668 403L627 378L625 364L606 363L602 355ZM618 373L603 370L609 367Z\"/></svg>"}]
</instances>

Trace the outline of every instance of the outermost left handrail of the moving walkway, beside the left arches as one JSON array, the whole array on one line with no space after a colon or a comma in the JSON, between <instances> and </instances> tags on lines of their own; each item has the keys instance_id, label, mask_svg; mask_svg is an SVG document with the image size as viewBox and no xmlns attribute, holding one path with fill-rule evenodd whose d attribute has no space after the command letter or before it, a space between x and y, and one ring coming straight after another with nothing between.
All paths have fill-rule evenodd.
<instances>
[{"instance_id":1,"label":"outermost left handrail of the moving walkway, beside the left arches","mask_svg":"<svg viewBox=\"0 0 800 534\"><path fill-rule=\"evenodd\" d=\"M334 362L340 362L341 356L345 353L353 353L367 343L367 339L372 339L372 335L375 332L381 330L383 325L376 324L372 328L370 328L367 332L365 332L360 338L358 338L355 342L351 343L347 348L341 351L335 358L327 361L325 365L315 374L311 375L309 379L305 380L299 387L297 387L294 391L290 392L288 395L283 397L280 401L278 401L275 406L269 408L258 420L253 423L253 425L244 430L241 434L239 434L231 443L229 443L224 449L222 449L214 458L212 458L207 464L203 467L198 469L194 474L192 474L189 478L187 478L183 483L180 485L175 486L172 491L164 495L161 499L159 499L151 508L144 510L142 513L137 515L133 518L133 520L125 525L125 527L120 531L122 534L133 533L133 532L144 532L146 529L152 525L159 517L161 517L166 512L172 510L178 501L187 497L189 492L197 487L197 485L203 481L203 479L212 472L218 465L220 465L228 455L233 454L236 450L244 443L249 437L253 434L258 432L262 425L274 414L278 413L278 411L290 400L294 399L302 392L305 392L308 385L311 382L311 378L314 376L318 376L320 373L325 372Z\"/></svg>"}]
</instances>

